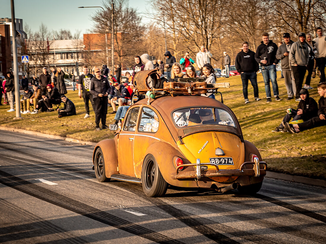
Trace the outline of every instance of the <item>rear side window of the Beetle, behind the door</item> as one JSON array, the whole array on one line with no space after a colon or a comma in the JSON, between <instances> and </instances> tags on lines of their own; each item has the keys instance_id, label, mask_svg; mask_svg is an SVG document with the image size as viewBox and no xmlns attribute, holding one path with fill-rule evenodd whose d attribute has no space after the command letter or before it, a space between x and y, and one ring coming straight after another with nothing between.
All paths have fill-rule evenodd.
<instances>
[{"instance_id":1,"label":"rear side window of the Beetle, behind the door","mask_svg":"<svg viewBox=\"0 0 326 244\"><path fill-rule=\"evenodd\" d=\"M143 107L138 131L155 133L158 130L158 126L159 121L156 113L150 108Z\"/></svg>"}]
</instances>

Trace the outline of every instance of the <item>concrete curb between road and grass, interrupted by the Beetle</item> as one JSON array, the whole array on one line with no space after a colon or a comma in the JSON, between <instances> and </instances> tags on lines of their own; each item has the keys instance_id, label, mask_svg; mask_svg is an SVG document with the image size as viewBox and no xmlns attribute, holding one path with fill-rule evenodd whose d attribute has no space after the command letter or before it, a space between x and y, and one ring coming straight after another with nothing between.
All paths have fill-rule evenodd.
<instances>
[{"instance_id":1,"label":"concrete curb between road and grass, interrupted by the Beetle","mask_svg":"<svg viewBox=\"0 0 326 244\"><path fill-rule=\"evenodd\" d=\"M52 139L59 139L59 140L67 141L67 142L76 142L76 143L80 143L83 145L95 146L97 144L96 142L84 142L84 141L80 141L77 139L56 136L56 135L50 135L50 134L45 134L45 133L40 133L40 132L25 130L25 129L16 129L16 128L12 128L12 127L0 126L0 130L20 132L20 133L25 133L25 134L30 134L30 135L52 138ZM272 171L267 171L265 177L278 179L278 180L285 180L285 181L290 181L290 182L296 182L296 183L303 183L303 184L308 184L308 185L314 185L314 186L320 186L320 187L326 188L325 180L311 179L311 178L304 177L304 176L289 175L289 174L284 174L284 173L276 173L276 172L272 172Z\"/></svg>"}]
</instances>

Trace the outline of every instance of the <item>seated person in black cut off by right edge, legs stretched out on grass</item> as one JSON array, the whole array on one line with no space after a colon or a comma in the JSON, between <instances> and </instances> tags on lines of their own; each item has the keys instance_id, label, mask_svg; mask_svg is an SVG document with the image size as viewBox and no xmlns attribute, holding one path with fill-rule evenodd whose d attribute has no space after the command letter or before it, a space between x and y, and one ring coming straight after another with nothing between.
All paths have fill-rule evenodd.
<instances>
[{"instance_id":1,"label":"seated person in black cut off by right edge, legs stretched out on grass","mask_svg":"<svg viewBox=\"0 0 326 244\"><path fill-rule=\"evenodd\" d=\"M313 117L303 123L291 125L286 123L286 128L291 133L299 133L300 131L304 131L306 129L312 129L319 126L326 125L326 83L322 82L318 85L318 94L321 97L318 101L319 109L318 116Z\"/></svg>"}]
</instances>

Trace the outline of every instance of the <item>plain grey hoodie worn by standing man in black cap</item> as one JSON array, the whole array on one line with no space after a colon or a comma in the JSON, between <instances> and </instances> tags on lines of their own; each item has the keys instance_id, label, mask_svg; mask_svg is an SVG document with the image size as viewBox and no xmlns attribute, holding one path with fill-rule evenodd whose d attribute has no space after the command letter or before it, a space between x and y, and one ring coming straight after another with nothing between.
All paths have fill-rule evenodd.
<instances>
[{"instance_id":1,"label":"plain grey hoodie worn by standing man in black cap","mask_svg":"<svg viewBox=\"0 0 326 244\"><path fill-rule=\"evenodd\" d=\"M295 64L303 65L303 66L308 65L309 62L308 44L305 41L303 43L300 42L300 39L298 37L298 41L291 45L289 59L290 59L291 66L294 66Z\"/></svg>"}]
</instances>

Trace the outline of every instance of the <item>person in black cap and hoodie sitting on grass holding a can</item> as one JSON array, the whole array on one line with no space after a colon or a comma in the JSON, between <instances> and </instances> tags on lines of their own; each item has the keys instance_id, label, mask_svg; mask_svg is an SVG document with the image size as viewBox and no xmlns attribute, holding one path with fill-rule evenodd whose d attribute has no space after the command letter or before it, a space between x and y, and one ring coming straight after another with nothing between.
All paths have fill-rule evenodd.
<instances>
[{"instance_id":1,"label":"person in black cap and hoodie sitting on grass holding a can","mask_svg":"<svg viewBox=\"0 0 326 244\"><path fill-rule=\"evenodd\" d=\"M283 121L276 129L272 130L272 132L287 132L288 130L285 128L285 125L290 122L291 118L293 118L293 121L299 119L307 121L317 116L318 104L315 99L309 97L308 90L302 88L299 93L301 101L298 104L297 110L288 108Z\"/></svg>"}]
</instances>

